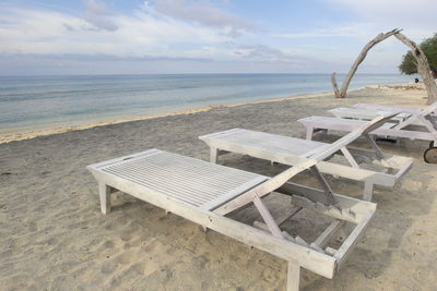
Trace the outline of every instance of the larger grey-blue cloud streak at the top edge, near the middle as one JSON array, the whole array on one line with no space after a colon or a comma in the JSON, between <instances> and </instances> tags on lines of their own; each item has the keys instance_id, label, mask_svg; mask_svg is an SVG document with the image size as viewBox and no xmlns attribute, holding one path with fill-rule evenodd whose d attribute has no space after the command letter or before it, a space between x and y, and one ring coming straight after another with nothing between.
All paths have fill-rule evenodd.
<instances>
[{"instance_id":1,"label":"larger grey-blue cloud streak at the top edge, near the middle","mask_svg":"<svg viewBox=\"0 0 437 291\"><path fill-rule=\"evenodd\" d=\"M149 7L147 2L145 3ZM227 13L206 0L154 0L153 3L154 9L162 14L197 22L205 26L228 28L228 35L232 37L237 37L244 32L255 29L253 22Z\"/></svg>"}]
</instances>

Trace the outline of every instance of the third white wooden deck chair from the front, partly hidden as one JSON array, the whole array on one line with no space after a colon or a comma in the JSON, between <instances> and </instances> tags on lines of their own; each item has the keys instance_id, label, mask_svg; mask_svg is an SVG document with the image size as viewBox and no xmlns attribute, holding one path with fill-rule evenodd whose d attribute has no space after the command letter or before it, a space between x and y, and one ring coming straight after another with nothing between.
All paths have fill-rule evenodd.
<instances>
[{"instance_id":1,"label":"third white wooden deck chair from the front, partly hidden","mask_svg":"<svg viewBox=\"0 0 437 291\"><path fill-rule=\"evenodd\" d=\"M430 117L435 110L433 107L427 107L420 114L412 114L402 120L388 120L383 125L373 131L373 136L382 136L383 138L409 138L429 141L429 148L424 151L424 159L427 162L437 162L437 122ZM391 114L391 113L389 113ZM358 119L343 119L331 117L308 117L299 119L298 122L304 124L307 130L307 140L312 138L316 131L343 131L351 132L366 124L367 121Z\"/></svg>"}]
</instances>

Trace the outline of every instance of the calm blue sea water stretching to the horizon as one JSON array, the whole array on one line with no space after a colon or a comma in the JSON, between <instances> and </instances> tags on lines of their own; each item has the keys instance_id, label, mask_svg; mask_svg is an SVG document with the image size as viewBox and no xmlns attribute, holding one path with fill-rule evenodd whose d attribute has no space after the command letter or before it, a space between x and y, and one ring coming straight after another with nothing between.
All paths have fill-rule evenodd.
<instances>
[{"instance_id":1,"label":"calm blue sea water stretching to the horizon","mask_svg":"<svg viewBox=\"0 0 437 291\"><path fill-rule=\"evenodd\" d=\"M411 81L356 75L351 88ZM320 92L329 74L2 76L0 134Z\"/></svg>"}]
</instances>

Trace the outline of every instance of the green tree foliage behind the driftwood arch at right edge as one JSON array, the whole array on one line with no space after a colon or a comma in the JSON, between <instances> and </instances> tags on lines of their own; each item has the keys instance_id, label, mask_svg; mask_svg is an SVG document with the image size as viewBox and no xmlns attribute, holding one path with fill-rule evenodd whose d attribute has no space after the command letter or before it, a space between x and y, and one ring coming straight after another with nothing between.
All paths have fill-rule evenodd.
<instances>
[{"instance_id":1,"label":"green tree foliage behind the driftwood arch at right edge","mask_svg":"<svg viewBox=\"0 0 437 291\"><path fill-rule=\"evenodd\" d=\"M437 69L437 34L434 37L427 38L420 45L428 59L429 66L432 70ZM402 63L399 65L399 70L408 75L417 73L417 63L411 51L402 56Z\"/></svg>"}]
</instances>

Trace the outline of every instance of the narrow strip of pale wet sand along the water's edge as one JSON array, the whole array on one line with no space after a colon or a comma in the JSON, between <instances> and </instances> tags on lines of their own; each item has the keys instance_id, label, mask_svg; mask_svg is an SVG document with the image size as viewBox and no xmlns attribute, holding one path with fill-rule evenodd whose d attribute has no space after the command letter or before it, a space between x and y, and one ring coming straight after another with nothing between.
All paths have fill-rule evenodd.
<instances>
[{"instance_id":1,"label":"narrow strip of pale wet sand along the water's edge","mask_svg":"<svg viewBox=\"0 0 437 291\"><path fill-rule=\"evenodd\" d=\"M363 88L366 88L366 87L363 87ZM363 88L354 89L351 92L359 90ZM23 133L16 132L16 133L11 133L11 134L0 135L0 144L31 140L31 138L35 138L38 136L60 134L60 133L71 132L71 131L82 131L82 130L106 126L106 125L111 125L111 124L119 124L119 123L131 122L131 121L149 120L149 119L165 118L165 117L173 117L173 116L192 114L192 113L198 113L198 112L206 112L206 111L216 110L216 109L233 108L233 107L251 105L251 104L277 102L277 101L293 100L293 99L300 99L300 98L318 98L318 97L324 97L324 96L329 96L329 95L333 95L333 94L332 93L299 94L299 95L291 95L291 96L286 96L286 97L263 98L263 99L259 99L259 100L235 102L235 104L227 104L227 105L210 105L208 107L196 107L196 108L191 108L191 109L177 110L177 111L172 111L172 112L166 112L166 113L140 116L140 117L134 117L134 118L122 118L122 119L115 119L115 120L110 120L110 121L92 122L92 123L78 124L78 125L71 125L71 126L55 126L52 129L36 130L36 131L23 132Z\"/></svg>"}]
</instances>

